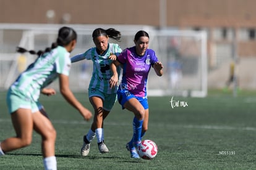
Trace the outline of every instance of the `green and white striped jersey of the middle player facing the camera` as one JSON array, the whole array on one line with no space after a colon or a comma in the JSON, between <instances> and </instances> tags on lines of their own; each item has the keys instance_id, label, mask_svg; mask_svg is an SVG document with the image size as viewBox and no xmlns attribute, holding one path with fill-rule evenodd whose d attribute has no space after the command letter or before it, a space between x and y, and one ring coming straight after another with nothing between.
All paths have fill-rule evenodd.
<instances>
[{"instance_id":1,"label":"green and white striped jersey of the middle player facing the camera","mask_svg":"<svg viewBox=\"0 0 256 170\"><path fill-rule=\"evenodd\" d=\"M77 62L79 60L92 60L93 62L93 74L89 84L89 89L98 89L105 94L116 93L117 87L110 88L109 79L113 76L110 70L110 64L113 62L109 59L109 56L115 54L118 56L122 52L121 47L118 44L109 43L108 49L104 54L99 55L96 51L96 47L88 49L83 54L75 55L71 58L71 62ZM119 75L119 68L117 73Z\"/></svg>"}]
</instances>

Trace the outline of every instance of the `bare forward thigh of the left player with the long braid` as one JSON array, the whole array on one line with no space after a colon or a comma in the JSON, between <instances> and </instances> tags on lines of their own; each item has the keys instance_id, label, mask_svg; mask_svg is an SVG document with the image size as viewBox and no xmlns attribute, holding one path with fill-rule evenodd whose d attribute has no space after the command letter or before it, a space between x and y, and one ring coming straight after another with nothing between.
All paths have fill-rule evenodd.
<instances>
[{"instance_id":1,"label":"bare forward thigh of the left player with the long braid","mask_svg":"<svg viewBox=\"0 0 256 170\"><path fill-rule=\"evenodd\" d=\"M43 139L54 139L56 138L56 131L53 127L51 121L46 118L45 115L41 114L40 111L36 111L32 114L33 116L33 128L38 134L40 134Z\"/></svg>"}]
</instances>

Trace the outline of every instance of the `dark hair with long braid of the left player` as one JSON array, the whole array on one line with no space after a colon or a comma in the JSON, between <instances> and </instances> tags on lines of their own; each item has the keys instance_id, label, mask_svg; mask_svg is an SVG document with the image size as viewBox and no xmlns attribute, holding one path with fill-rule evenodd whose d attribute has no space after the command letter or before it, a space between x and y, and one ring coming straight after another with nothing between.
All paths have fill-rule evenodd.
<instances>
[{"instance_id":1,"label":"dark hair with long braid of the left player","mask_svg":"<svg viewBox=\"0 0 256 170\"><path fill-rule=\"evenodd\" d=\"M56 42L53 42L53 44L51 44L51 47L46 47L45 51L28 51L27 49L24 49L22 47L17 47L16 51L20 53L29 52L30 54L40 56L43 55L45 52L50 52L52 49L55 49L58 46L67 46L71 41L76 39L77 33L75 32L75 30L73 30L70 27L63 26L62 28L59 29L58 38Z\"/></svg>"}]
</instances>

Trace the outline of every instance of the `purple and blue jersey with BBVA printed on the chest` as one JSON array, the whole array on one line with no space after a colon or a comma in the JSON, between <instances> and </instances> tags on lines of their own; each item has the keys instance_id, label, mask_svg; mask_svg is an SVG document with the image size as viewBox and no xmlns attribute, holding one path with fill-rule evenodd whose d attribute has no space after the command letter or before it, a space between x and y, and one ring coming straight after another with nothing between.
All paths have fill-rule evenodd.
<instances>
[{"instance_id":1,"label":"purple and blue jersey with BBVA printed on the chest","mask_svg":"<svg viewBox=\"0 0 256 170\"><path fill-rule=\"evenodd\" d=\"M122 82L118 92L131 92L137 97L147 97L147 79L151 66L158 62L155 51L147 49L137 55L135 46L125 49L117 60L123 65Z\"/></svg>"}]
</instances>

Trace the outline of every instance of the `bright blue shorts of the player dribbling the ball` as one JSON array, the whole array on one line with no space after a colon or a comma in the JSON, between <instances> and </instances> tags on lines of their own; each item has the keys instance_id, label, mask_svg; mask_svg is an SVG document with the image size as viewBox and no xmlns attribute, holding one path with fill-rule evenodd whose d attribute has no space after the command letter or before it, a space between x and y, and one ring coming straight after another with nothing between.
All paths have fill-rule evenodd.
<instances>
[{"instance_id":1,"label":"bright blue shorts of the player dribbling the ball","mask_svg":"<svg viewBox=\"0 0 256 170\"><path fill-rule=\"evenodd\" d=\"M143 108L148 109L148 98L147 97L138 97L130 92L117 92L118 102L122 105L122 109L124 109L124 103L126 103L129 99L135 98L140 104L142 104Z\"/></svg>"}]
</instances>

